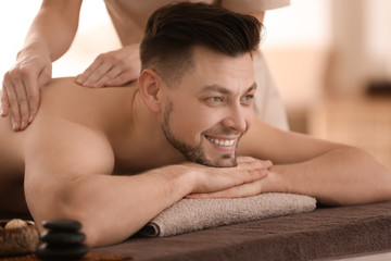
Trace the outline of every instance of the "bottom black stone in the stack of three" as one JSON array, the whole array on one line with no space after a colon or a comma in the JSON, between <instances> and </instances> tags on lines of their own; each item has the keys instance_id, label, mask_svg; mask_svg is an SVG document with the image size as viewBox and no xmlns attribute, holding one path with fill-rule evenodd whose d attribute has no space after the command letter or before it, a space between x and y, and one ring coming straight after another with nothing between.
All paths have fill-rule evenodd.
<instances>
[{"instance_id":1,"label":"bottom black stone in the stack of three","mask_svg":"<svg viewBox=\"0 0 391 261\"><path fill-rule=\"evenodd\" d=\"M88 248L84 245L56 247L43 243L38 246L36 254L38 258L47 260L73 260L81 258L87 252Z\"/></svg>"}]
</instances>

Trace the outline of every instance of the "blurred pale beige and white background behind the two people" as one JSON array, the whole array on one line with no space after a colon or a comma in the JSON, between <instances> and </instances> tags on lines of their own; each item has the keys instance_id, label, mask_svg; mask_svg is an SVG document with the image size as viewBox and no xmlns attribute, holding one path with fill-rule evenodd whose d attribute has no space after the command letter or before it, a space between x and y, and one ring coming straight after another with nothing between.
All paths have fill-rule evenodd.
<instances>
[{"instance_id":1,"label":"blurred pale beige and white background behind the two people","mask_svg":"<svg viewBox=\"0 0 391 261\"><path fill-rule=\"evenodd\" d=\"M41 1L0 3L0 73L13 65ZM391 167L391 1L291 0L266 12L262 50L292 130L366 149ZM85 0L53 76L119 48L103 1Z\"/></svg>"}]
</instances>

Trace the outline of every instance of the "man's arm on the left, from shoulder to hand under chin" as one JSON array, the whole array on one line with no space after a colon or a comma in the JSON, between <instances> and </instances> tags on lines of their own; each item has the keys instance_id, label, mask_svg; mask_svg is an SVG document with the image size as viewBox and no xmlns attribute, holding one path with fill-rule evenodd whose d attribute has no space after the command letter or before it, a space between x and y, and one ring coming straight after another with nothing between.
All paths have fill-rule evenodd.
<instances>
[{"instance_id":1,"label":"man's arm on the left, from shoulder to hand under chin","mask_svg":"<svg viewBox=\"0 0 391 261\"><path fill-rule=\"evenodd\" d=\"M257 181L269 166L243 159L237 167L184 163L115 176L114 154L102 133L46 117L41 113L30 126L25 146L28 208L38 226L43 220L78 220L89 246L119 243L186 195Z\"/></svg>"}]
</instances>

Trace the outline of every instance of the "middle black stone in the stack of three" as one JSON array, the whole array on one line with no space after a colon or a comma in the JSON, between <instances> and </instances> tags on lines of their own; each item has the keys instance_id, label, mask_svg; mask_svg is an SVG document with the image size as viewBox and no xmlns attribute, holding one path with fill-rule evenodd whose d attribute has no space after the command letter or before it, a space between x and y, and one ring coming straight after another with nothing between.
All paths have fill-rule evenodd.
<instances>
[{"instance_id":1,"label":"middle black stone in the stack of three","mask_svg":"<svg viewBox=\"0 0 391 261\"><path fill-rule=\"evenodd\" d=\"M40 239L50 246L66 246L81 244L86 235L79 232L49 231L43 232Z\"/></svg>"}]
</instances>

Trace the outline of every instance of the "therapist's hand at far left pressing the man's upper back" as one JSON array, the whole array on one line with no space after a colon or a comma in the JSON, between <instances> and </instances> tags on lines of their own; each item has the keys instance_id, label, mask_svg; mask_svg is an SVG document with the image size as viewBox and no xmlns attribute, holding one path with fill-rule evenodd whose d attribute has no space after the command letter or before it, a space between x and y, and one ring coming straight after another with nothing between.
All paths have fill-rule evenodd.
<instances>
[{"instance_id":1,"label":"therapist's hand at far left pressing the man's upper back","mask_svg":"<svg viewBox=\"0 0 391 261\"><path fill-rule=\"evenodd\" d=\"M39 109L39 89L51 78L49 53L38 46L22 49L15 65L5 73L1 92L1 116L11 115L12 128L24 130Z\"/></svg>"}]
</instances>

